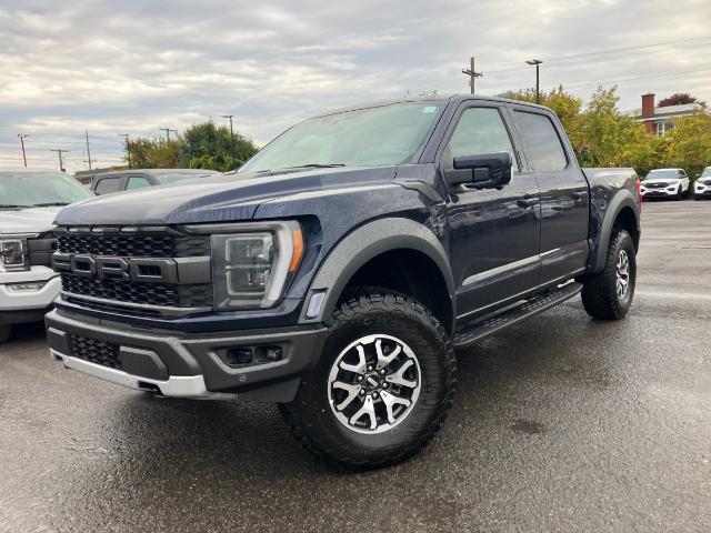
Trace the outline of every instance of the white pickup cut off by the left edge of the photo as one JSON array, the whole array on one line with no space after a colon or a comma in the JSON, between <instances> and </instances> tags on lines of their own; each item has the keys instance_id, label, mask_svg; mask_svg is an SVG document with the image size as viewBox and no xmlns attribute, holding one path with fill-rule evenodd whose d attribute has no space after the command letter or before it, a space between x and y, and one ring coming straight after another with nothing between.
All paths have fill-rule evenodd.
<instances>
[{"instance_id":1,"label":"white pickup cut off by the left edge of the photo","mask_svg":"<svg viewBox=\"0 0 711 533\"><path fill-rule=\"evenodd\" d=\"M0 169L0 342L11 324L41 321L59 294L52 221L63 205L91 197L61 172Z\"/></svg>"}]
</instances>

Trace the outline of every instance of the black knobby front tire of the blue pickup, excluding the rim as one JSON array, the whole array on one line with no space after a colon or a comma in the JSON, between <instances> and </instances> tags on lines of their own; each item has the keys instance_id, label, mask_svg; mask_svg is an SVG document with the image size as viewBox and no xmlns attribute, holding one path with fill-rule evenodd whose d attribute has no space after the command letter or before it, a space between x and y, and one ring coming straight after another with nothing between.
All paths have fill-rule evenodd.
<instances>
[{"instance_id":1,"label":"black knobby front tire of the blue pickup, excluding the rim","mask_svg":"<svg viewBox=\"0 0 711 533\"><path fill-rule=\"evenodd\" d=\"M438 432L452 403L457 363L440 322L415 300L381 288L350 291L337 305L323 352L301 379L294 400L280 411L293 435L319 459L347 470L399 463ZM404 341L420 365L419 398L401 423L383 433L357 433L339 422L329 403L328 376L339 353L369 334Z\"/></svg>"}]
</instances>

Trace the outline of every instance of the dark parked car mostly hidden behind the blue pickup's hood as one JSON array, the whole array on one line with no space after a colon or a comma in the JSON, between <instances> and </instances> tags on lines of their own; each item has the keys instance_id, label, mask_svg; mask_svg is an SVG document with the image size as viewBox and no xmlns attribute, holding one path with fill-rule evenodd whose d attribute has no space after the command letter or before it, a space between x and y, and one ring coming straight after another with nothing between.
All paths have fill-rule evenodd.
<instances>
[{"instance_id":1,"label":"dark parked car mostly hidden behind the blue pickup's hood","mask_svg":"<svg viewBox=\"0 0 711 533\"><path fill-rule=\"evenodd\" d=\"M94 194L131 191L144 187L167 185L183 180L221 175L221 172L204 169L139 169L104 172L91 183Z\"/></svg>"}]
</instances>

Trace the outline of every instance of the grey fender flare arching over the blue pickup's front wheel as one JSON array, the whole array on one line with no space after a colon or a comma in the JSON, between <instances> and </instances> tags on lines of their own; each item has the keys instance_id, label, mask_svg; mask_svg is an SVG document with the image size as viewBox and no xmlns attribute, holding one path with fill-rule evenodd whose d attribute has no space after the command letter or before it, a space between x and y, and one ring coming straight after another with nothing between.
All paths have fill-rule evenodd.
<instances>
[{"instance_id":1,"label":"grey fender flare arching over the blue pickup's front wheel","mask_svg":"<svg viewBox=\"0 0 711 533\"><path fill-rule=\"evenodd\" d=\"M447 283L452 302L452 319L457 316L454 279L449 257L440 241L421 223L409 219L387 218L361 225L333 247L311 281L299 322L326 322L353 274L371 259L398 249L415 250L432 260ZM319 314L307 318L311 295L322 291L326 291L326 296Z\"/></svg>"}]
</instances>

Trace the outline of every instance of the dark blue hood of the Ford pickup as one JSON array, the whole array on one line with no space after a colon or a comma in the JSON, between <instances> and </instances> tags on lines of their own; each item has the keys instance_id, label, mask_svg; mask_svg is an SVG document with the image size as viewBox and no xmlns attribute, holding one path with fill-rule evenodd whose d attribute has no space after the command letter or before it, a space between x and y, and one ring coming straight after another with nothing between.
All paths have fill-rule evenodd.
<instances>
[{"instance_id":1,"label":"dark blue hood of the Ford pickup","mask_svg":"<svg viewBox=\"0 0 711 533\"><path fill-rule=\"evenodd\" d=\"M390 182L395 167L237 173L92 198L64 208L59 225L156 225L238 222L276 198Z\"/></svg>"}]
</instances>

